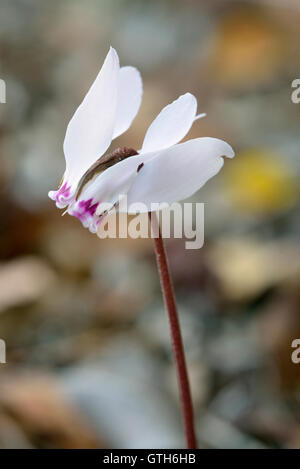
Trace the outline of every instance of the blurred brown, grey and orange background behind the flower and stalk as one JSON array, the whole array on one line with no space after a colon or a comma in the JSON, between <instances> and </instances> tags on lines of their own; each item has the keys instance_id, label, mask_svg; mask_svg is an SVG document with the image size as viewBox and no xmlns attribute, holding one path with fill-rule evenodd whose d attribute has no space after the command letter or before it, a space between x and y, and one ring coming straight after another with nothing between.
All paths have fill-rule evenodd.
<instances>
[{"instance_id":1,"label":"blurred brown, grey and orange background behind the flower and stalk","mask_svg":"<svg viewBox=\"0 0 300 469\"><path fill-rule=\"evenodd\" d=\"M47 197L66 125L112 44L144 98L115 143L198 98L189 138L236 158L192 200L205 245L167 244L202 448L299 448L300 3L2 0L0 447L183 447L151 240L100 240Z\"/></svg>"}]
</instances>

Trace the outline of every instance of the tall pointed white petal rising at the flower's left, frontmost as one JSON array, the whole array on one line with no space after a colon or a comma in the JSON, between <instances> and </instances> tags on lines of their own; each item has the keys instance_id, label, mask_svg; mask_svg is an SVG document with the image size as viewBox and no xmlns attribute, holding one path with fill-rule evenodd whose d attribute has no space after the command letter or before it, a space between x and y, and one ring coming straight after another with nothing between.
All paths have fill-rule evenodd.
<instances>
[{"instance_id":1,"label":"tall pointed white petal rising at the flower's left, frontmost","mask_svg":"<svg viewBox=\"0 0 300 469\"><path fill-rule=\"evenodd\" d=\"M104 64L67 127L65 178L78 182L109 147L117 107L119 58L110 48Z\"/></svg>"}]
</instances>

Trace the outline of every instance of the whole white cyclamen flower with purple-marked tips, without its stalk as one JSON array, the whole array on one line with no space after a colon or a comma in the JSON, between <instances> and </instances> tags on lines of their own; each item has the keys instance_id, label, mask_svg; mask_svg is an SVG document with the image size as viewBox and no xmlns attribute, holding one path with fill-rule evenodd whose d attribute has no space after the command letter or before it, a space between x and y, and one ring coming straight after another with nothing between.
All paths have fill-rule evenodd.
<instances>
[{"instance_id":1,"label":"whole white cyclamen flower with purple-marked tips, without its stalk","mask_svg":"<svg viewBox=\"0 0 300 469\"><path fill-rule=\"evenodd\" d=\"M134 67L119 66L110 48L104 64L72 117L65 136L66 170L49 197L67 208L91 232L103 218L99 208L112 206L122 194L127 207L143 203L171 204L191 196L217 174L222 156L232 158L228 143L203 137L178 144L197 116L197 100L186 93L166 106L150 125L141 150L121 148L104 155L111 141L125 132L142 99L142 80ZM104 155L101 157L101 155ZM99 158L101 157L101 158Z\"/></svg>"}]
</instances>

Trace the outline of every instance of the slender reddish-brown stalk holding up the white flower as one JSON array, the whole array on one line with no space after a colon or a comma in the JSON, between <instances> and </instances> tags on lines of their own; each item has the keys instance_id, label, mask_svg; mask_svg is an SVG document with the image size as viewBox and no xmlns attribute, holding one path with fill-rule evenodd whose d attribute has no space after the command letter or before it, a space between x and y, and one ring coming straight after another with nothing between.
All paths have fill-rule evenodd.
<instances>
[{"instance_id":1,"label":"slender reddish-brown stalk holding up the white flower","mask_svg":"<svg viewBox=\"0 0 300 469\"><path fill-rule=\"evenodd\" d=\"M187 373L184 347L181 336L180 323L176 308L174 289L170 276L167 255L158 220L155 213L149 213L152 230L155 233L154 247L161 289L164 297L165 307L168 313L172 348L176 364L178 386L180 392L180 404L182 419L185 430L187 448L195 449L197 446L194 429L194 412L191 398L190 384Z\"/></svg>"}]
</instances>

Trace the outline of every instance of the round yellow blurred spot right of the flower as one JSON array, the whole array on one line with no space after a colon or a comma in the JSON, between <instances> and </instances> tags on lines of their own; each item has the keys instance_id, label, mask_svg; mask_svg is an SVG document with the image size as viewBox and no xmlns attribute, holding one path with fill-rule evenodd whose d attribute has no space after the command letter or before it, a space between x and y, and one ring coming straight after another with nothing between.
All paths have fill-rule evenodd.
<instances>
[{"instance_id":1,"label":"round yellow blurred spot right of the flower","mask_svg":"<svg viewBox=\"0 0 300 469\"><path fill-rule=\"evenodd\" d=\"M266 150L238 154L225 173L233 203L248 212L284 210L296 200L296 182L282 158Z\"/></svg>"}]
</instances>

